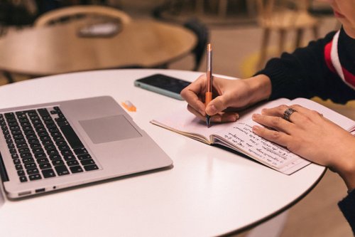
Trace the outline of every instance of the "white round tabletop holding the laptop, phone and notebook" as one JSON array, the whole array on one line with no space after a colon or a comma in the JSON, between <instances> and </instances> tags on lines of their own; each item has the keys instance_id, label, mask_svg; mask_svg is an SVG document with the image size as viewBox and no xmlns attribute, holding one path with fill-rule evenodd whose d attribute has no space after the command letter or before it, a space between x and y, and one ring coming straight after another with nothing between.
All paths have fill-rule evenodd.
<instances>
[{"instance_id":1,"label":"white round tabletop holding the laptop, phone and notebook","mask_svg":"<svg viewBox=\"0 0 355 237\"><path fill-rule=\"evenodd\" d=\"M130 100L133 120L173 159L173 169L11 201L0 193L1 236L218 236L294 204L324 173L316 164L290 176L149 121L186 102L133 86L180 70L101 70L0 87L0 108L111 95Z\"/></svg>"}]
</instances>

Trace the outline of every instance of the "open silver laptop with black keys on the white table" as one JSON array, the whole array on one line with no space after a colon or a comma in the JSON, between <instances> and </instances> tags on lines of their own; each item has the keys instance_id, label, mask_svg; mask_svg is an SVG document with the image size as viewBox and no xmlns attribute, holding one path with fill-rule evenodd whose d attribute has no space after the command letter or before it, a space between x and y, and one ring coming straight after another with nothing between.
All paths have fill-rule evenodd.
<instances>
[{"instance_id":1,"label":"open silver laptop with black keys on the white table","mask_svg":"<svg viewBox=\"0 0 355 237\"><path fill-rule=\"evenodd\" d=\"M172 167L111 97L0 110L0 174L11 199Z\"/></svg>"}]
</instances>

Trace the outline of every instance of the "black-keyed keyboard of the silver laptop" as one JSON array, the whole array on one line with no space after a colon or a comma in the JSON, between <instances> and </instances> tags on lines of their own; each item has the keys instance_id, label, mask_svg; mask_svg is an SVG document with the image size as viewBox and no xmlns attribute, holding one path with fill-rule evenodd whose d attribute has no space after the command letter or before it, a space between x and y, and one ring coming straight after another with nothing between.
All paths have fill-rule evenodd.
<instances>
[{"instance_id":1,"label":"black-keyed keyboard of the silver laptop","mask_svg":"<svg viewBox=\"0 0 355 237\"><path fill-rule=\"evenodd\" d=\"M0 114L0 125L21 182L99 169L58 106Z\"/></svg>"}]
</instances>

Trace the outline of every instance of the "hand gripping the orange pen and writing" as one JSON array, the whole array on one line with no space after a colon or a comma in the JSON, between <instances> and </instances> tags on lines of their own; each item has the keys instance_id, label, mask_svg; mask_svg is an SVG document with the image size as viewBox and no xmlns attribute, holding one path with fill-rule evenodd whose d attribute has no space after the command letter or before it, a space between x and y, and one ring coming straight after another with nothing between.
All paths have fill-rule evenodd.
<instances>
[{"instance_id":1,"label":"hand gripping the orange pen and writing","mask_svg":"<svg viewBox=\"0 0 355 237\"><path fill-rule=\"evenodd\" d=\"M228 80L213 77L214 99L204 106L206 76L201 75L181 92L188 105L187 110L201 120L206 114L212 122L234 122L239 118L236 109L267 99L271 94L271 82L266 75L244 80Z\"/></svg>"}]
</instances>

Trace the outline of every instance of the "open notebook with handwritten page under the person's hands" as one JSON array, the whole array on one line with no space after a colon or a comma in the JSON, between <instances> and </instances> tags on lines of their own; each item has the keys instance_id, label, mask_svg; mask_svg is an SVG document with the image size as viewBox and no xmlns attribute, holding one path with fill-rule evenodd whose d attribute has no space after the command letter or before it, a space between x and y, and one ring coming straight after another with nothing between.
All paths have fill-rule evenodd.
<instances>
[{"instance_id":1,"label":"open notebook with handwritten page under the person's hands","mask_svg":"<svg viewBox=\"0 0 355 237\"><path fill-rule=\"evenodd\" d=\"M261 112L261 109L264 107L275 107L283 104L298 104L312 110L317 110L324 117L355 134L355 121L305 98L297 98L295 100L282 98L266 102L245 111L236 122L214 123L209 128L206 127L206 122L199 120L195 115L188 112L185 105L180 110L175 110L175 113L166 117L159 117L152 120L151 123L206 144L220 144L229 147L283 174L292 174L307 166L310 162L302 159L297 154L293 154L285 147L259 137L251 130L251 127L256 125L256 122L253 122L251 119L253 113Z\"/></svg>"}]
</instances>

